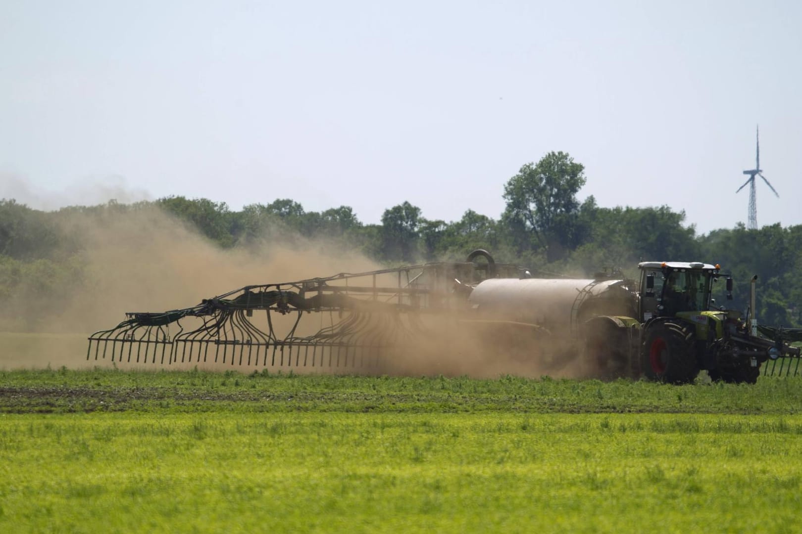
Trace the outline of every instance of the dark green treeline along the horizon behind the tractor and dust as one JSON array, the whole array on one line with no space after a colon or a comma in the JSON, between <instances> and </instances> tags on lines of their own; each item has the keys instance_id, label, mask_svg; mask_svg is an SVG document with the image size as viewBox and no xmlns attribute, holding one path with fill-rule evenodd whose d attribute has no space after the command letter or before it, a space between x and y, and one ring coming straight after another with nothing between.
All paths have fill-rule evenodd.
<instances>
[{"instance_id":1,"label":"dark green treeline along the horizon behind the tractor and dust","mask_svg":"<svg viewBox=\"0 0 802 534\"><path fill-rule=\"evenodd\" d=\"M419 207L403 202L387 208L380 224L360 222L347 206L306 211L293 199L232 211L226 203L173 196L52 212L4 199L0 200L0 304L20 291L36 291L30 287L31 279L46 289L80 283L83 230L71 225L73 215L94 217L103 224L104 218L115 214L156 208L223 249L270 239L306 240L397 265L464 259L468 251L485 248L504 262L572 275L619 267L635 276L638 261L645 259L719 263L736 281L735 301L728 307L746 308L748 281L756 274L761 322L802 326L802 226L776 224L750 231L739 225L697 235L685 223L684 212L670 207L599 207L592 196L579 203L577 192L584 184L581 163L552 152L521 167L508 180L503 191L506 209L498 219L470 209L457 221L427 219Z\"/></svg>"}]
</instances>

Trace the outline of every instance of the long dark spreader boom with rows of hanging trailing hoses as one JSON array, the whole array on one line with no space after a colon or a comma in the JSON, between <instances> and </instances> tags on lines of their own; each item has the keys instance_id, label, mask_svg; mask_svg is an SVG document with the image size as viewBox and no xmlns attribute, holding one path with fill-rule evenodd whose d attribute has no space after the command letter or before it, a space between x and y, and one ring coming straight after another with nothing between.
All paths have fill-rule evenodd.
<instances>
[{"instance_id":1,"label":"long dark spreader boom with rows of hanging trailing hoses","mask_svg":"<svg viewBox=\"0 0 802 534\"><path fill-rule=\"evenodd\" d=\"M426 263L241 287L193 307L129 312L89 337L87 359L126 363L375 367L428 333L427 315L463 317L482 279L519 267ZM262 315L264 314L264 315ZM186 324L185 324L186 323Z\"/></svg>"}]
</instances>

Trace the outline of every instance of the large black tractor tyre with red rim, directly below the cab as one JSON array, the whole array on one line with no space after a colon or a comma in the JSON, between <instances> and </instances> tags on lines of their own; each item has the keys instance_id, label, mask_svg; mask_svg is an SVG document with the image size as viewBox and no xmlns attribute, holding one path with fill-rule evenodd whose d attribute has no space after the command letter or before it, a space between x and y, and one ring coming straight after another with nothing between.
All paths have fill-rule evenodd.
<instances>
[{"instance_id":1,"label":"large black tractor tyre with red rim, directly below the cab","mask_svg":"<svg viewBox=\"0 0 802 534\"><path fill-rule=\"evenodd\" d=\"M694 332L674 323L650 328L642 347L641 368L652 380L691 383L699 375L693 346Z\"/></svg>"}]
</instances>

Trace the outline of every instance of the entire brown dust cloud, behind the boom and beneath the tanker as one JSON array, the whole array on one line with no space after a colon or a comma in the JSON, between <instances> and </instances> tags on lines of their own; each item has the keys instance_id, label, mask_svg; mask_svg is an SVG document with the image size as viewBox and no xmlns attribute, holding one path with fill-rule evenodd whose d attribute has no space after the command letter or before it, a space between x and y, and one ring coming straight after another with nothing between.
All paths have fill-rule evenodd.
<instances>
[{"instance_id":1,"label":"entire brown dust cloud, behind the boom and beneath the tanker","mask_svg":"<svg viewBox=\"0 0 802 534\"><path fill-rule=\"evenodd\" d=\"M2 332L0 368L111 367L109 358L87 359L87 335L115 327L125 312L168 311L192 307L201 299L247 285L283 283L340 272L383 268L338 245L310 242L298 235L272 231L257 244L223 250L156 207L128 211L76 212L63 220L65 234L77 236L81 275L64 288L66 302L52 309L26 307L14 299L26 331ZM58 305L56 305L58 304ZM451 315L434 313L367 314L363 335L392 339L374 366L304 366L299 359L254 359L240 364L188 359L170 365L117 359L120 368L156 370L192 368L295 373L379 375L576 375L573 355L531 325L499 324L471 315L469 305ZM296 335L312 335L348 319L346 311L302 314ZM261 319L264 319L262 312ZM286 332L294 315L277 316L274 327ZM254 323L264 329L265 325ZM277 332L282 339L282 333ZM358 339L358 338L353 338ZM329 354L331 359L331 354ZM234 363L234 364L232 364Z\"/></svg>"}]
</instances>

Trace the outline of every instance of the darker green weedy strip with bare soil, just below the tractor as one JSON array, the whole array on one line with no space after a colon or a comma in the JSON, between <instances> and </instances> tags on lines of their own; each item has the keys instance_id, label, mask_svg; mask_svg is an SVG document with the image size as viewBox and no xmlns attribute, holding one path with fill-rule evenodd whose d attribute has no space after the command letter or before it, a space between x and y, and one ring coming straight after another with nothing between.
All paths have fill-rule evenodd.
<instances>
[{"instance_id":1,"label":"darker green weedy strip with bare soil, just below the tractor","mask_svg":"<svg viewBox=\"0 0 802 534\"><path fill-rule=\"evenodd\" d=\"M0 413L802 413L802 378L755 385L644 381L249 375L227 371L0 371Z\"/></svg>"}]
</instances>

